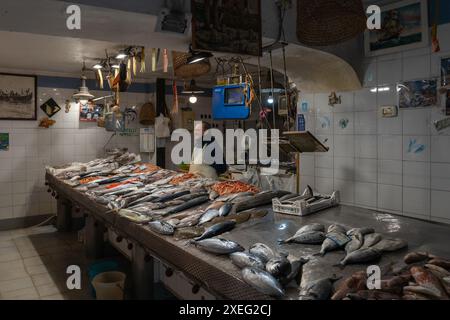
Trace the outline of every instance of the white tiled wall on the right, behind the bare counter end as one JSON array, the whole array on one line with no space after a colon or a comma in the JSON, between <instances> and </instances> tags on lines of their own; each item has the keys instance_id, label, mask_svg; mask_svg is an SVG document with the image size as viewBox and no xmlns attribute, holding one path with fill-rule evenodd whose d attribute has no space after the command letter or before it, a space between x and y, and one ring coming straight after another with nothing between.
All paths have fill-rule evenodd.
<instances>
[{"instance_id":1,"label":"white tiled wall on the right, behind the bare counter end","mask_svg":"<svg viewBox=\"0 0 450 320\"><path fill-rule=\"evenodd\" d=\"M425 47L365 59L363 89L339 93L341 105L330 108L328 94L314 95L317 115L332 124L321 128L323 119L313 120L315 133L330 146L328 154L315 157L318 191L335 189L344 203L450 224L450 128L438 132L433 125L448 117L445 100L402 109L395 118L380 112L381 106L398 105L398 82L440 76L440 58L450 56L450 24L439 32L438 54ZM349 119L345 129L339 126L343 118Z\"/></svg>"}]
</instances>

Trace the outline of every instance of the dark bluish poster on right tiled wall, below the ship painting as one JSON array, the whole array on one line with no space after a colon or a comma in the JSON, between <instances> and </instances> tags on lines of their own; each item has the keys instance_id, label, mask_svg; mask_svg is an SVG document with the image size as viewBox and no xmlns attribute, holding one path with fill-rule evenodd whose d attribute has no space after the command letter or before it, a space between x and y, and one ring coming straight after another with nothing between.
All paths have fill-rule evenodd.
<instances>
[{"instance_id":1,"label":"dark bluish poster on right tiled wall, below the ship painting","mask_svg":"<svg viewBox=\"0 0 450 320\"><path fill-rule=\"evenodd\" d=\"M437 103L437 80L406 81L397 85L400 108L431 107Z\"/></svg>"}]
</instances>

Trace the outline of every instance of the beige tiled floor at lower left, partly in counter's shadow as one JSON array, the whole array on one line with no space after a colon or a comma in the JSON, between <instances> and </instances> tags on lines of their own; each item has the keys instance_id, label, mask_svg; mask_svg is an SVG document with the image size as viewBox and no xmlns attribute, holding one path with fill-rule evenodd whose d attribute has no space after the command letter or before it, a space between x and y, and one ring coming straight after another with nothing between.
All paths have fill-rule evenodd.
<instances>
[{"instance_id":1,"label":"beige tiled floor at lower left, partly in counter's shadow","mask_svg":"<svg viewBox=\"0 0 450 320\"><path fill-rule=\"evenodd\" d=\"M53 226L0 231L0 299L92 299L83 245ZM66 285L69 265L82 271L81 290Z\"/></svg>"}]
</instances>

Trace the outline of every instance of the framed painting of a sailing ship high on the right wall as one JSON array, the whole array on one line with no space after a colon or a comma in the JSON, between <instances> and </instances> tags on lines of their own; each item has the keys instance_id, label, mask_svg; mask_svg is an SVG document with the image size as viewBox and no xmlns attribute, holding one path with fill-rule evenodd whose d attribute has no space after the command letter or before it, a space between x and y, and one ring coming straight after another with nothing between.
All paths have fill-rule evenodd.
<instances>
[{"instance_id":1,"label":"framed painting of a sailing ship high on the right wall","mask_svg":"<svg viewBox=\"0 0 450 320\"><path fill-rule=\"evenodd\" d=\"M404 0L381 6L381 29L366 30L366 56L378 56L428 45L426 0Z\"/></svg>"}]
</instances>

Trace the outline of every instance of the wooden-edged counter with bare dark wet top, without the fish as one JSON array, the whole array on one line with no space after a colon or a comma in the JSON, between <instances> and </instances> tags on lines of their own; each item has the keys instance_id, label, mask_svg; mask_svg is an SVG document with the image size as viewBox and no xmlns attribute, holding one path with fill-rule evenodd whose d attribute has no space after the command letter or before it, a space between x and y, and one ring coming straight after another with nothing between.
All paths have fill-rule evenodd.
<instances>
[{"instance_id":1,"label":"wooden-edged counter with bare dark wet top, without the fish","mask_svg":"<svg viewBox=\"0 0 450 320\"><path fill-rule=\"evenodd\" d=\"M143 264L150 265L151 257L155 257L171 268L183 272L218 299L271 299L244 282L241 271L231 263L229 257L201 251L189 244L188 240L177 241L171 236L160 235L115 213L108 212L105 206L89 199L49 173L46 175L46 180L57 192L58 202L79 206L88 217L91 217L93 221L91 229L94 230L92 232L94 235L88 236L87 247L91 248L94 254L101 252L98 234L103 232L102 225L111 228L133 243L132 270L134 273L132 276L135 283L134 290L137 293L136 298L145 297L145 294L143 296L139 292L146 292L148 297L149 288L152 287L153 269L145 268ZM61 208L63 213L66 212L63 205L58 208ZM320 245L279 243L279 240L292 236L300 226L316 222L327 226L339 223L347 228L371 227L384 236L406 240L408 249L383 254L381 260L372 263L380 266L382 270L401 262L408 251L421 250L450 256L450 247L446 245L450 240L450 228L447 225L343 205L305 217L286 216L273 213L269 209L269 214L265 217L238 225L231 232L222 234L220 237L235 241L245 249L254 243L262 242L280 252L289 253L294 258L308 257L309 262L303 266L302 283L308 279L341 278L335 284L337 286L342 279L356 271L367 270L369 264L348 265L344 269L335 266L344 258L343 251L329 252L321 257L313 256L320 250ZM135 253L136 251L138 254ZM141 281L142 279L145 281ZM298 297L299 288L289 287L286 288L286 295L283 298L298 299Z\"/></svg>"}]
</instances>

